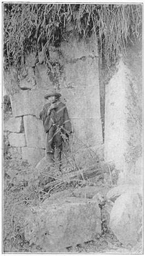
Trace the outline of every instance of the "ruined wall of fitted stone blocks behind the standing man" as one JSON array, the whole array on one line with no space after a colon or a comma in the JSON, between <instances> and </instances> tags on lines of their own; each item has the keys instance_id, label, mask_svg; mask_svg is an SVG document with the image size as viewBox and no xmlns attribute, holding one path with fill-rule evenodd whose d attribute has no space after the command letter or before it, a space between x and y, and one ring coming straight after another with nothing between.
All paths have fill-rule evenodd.
<instances>
[{"instance_id":1,"label":"ruined wall of fitted stone blocks behind the standing man","mask_svg":"<svg viewBox=\"0 0 145 256\"><path fill-rule=\"evenodd\" d=\"M52 65L46 67L43 53L39 53L37 59L34 54L27 57L19 75L21 90L11 97L13 124L19 119L24 129L11 131L11 125L7 123L4 131L9 133L10 146L19 149L22 159L27 159L33 166L44 157L45 138L39 112L46 103L44 95L51 87L60 90L61 100L67 105L74 130L74 148L83 148L84 144L87 147L101 146L96 42L96 38L86 41L71 38L59 48L50 47L49 59L54 68Z\"/></svg>"}]
</instances>

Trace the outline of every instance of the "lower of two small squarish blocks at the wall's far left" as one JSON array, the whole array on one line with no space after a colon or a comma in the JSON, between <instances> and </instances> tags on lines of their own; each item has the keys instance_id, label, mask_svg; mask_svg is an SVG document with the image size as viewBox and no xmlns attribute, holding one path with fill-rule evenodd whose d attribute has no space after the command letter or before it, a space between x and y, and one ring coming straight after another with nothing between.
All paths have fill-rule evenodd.
<instances>
[{"instance_id":1,"label":"lower of two small squarish blocks at the wall's far left","mask_svg":"<svg viewBox=\"0 0 145 256\"><path fill-rule=\"evenodd\" d=\"M12 147L25 147L26 139L24 133L10 132L8 135L9 144Z\"/></svg>"}]
</instances>

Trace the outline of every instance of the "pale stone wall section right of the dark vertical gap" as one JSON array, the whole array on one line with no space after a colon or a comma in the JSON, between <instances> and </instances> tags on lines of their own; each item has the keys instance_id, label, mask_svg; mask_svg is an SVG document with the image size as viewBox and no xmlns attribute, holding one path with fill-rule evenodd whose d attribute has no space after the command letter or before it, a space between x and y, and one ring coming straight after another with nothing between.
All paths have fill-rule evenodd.
<instances>
[{"instance_id":1,"label":"pale stone wall section right of the dark vertical gap","mask_svg":"<svg viewBox=\"0 0 145 256\"><path fill-rule=\"evenodd\" d=\"M119 170L118 183L142 184L141 42L127 49L106 86L105 159Z\"/></svg>"}]
</instances>

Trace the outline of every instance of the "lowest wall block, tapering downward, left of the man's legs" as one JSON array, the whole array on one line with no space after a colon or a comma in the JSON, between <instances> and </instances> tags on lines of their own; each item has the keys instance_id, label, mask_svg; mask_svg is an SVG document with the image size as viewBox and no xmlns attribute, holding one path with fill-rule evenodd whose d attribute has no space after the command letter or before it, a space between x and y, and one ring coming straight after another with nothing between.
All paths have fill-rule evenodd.
<instances>
[{"instance_id":1,"label":"lowest wall block, tapering downward, left of the man's legs","mask_svg":"<svg viewBox=\"0 0 145 256\"><path fill-rule=\"evenodd\" d=\"M44 154L44 149L29 147L22 148L22 159L27 160L33 167L39 163L40 159L44 157Z\"/></svg>"}]
</instances>

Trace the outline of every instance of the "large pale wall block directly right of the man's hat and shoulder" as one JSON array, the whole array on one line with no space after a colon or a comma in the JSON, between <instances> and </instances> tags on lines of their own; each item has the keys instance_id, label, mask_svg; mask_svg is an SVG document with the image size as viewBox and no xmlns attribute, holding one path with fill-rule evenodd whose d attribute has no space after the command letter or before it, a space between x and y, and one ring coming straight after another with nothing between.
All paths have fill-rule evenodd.
<instances>
[{"instance_id":1,"label":"large pale wall block directly right of the man's hat and shoulder","mask_svg":"<svg viewBox=\"0 0 145 256\"><path fill-rule=\"evenodd\" d=\"M75 87L61 90L62 101L66 104L69 118L100 118L100 90L94 87Z\"/></svg>"}]
</instances>

